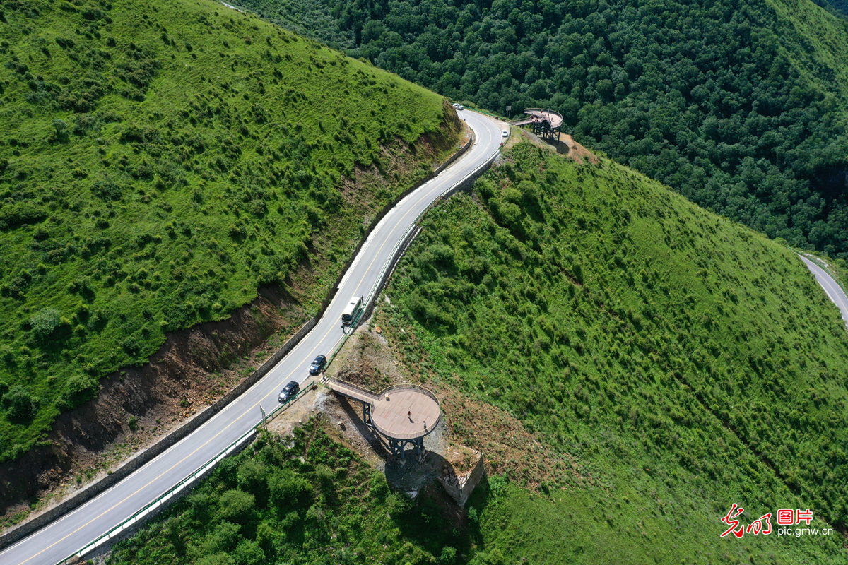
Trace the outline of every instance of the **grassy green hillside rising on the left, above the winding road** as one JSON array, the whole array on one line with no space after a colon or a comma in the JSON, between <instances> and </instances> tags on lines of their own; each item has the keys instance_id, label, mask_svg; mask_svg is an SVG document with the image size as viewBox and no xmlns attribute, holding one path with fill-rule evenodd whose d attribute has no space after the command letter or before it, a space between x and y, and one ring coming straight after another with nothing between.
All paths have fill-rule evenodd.
<instances>
[{"instance_id":1,"label":"grassy green hillside rising on the left, above the winding road","mask_svg":"<svg viewBox=\"0 0 848 565\"><path fill-rule=\"evenodd\" d=\"M4 2L0 60L0 460L259 285L315 309L459 128L432 92L220 3Z\"/></svg>"}]
</instances>

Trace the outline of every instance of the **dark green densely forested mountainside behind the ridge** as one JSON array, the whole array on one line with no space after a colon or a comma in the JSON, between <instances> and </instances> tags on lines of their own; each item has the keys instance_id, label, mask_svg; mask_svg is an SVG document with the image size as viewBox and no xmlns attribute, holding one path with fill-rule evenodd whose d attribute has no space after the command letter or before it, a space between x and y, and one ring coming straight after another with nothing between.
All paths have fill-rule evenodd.
<instances>
[{"instance_id":1,"label":"dark green densely forested mountainside behind the ridge","mask_svg":"<svg viewBox=\"0 0 848 565\"><path fill-rule=\"evenodd\" d=\"M806 0L242 5L457 100L555 108L701 206L848 258L848 20Z\"/></svg>"}]
</instances>

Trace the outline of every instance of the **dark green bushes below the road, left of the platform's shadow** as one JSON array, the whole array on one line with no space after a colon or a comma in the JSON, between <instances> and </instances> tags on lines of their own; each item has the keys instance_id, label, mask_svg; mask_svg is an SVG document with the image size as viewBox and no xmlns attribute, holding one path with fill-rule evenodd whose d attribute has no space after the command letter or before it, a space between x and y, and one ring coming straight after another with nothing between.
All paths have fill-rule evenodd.
<instances>
[{"instance_id":1,"label":"dark green bushes below the road, left of the platform's shadow","mask_svg":"<svg viewBox=\"0 0 848 565\"><path fill-rule=\"evenodd\" d=\"M441 527L441 507L427 500L390 490L310 421L291 447L264 437L223 461L109 563L463 562L470 540Z\"/></svg>"}]
</instances>

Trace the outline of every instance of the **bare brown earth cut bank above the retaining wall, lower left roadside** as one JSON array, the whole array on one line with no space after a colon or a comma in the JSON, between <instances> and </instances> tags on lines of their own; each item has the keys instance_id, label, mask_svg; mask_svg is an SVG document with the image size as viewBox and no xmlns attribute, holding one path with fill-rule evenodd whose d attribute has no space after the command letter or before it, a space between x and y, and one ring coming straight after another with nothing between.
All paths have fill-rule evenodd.
<instances>
[{"instance_id":1,"label":"bare brown earth cut bank above the retaining wall, lower left roadside","mask_svg":"<svg viewBox=\"0 0 848 565\"><path fill-rule=\"evenodd\" d=\"M127 442L136 451L215 402L244 376L228 369L234 361L283 326L296 330L307 319L293 302L262 289L230 319L176 331L149 363L101 379L97 398L59 416L48 445L0 464L0 512L19 511L87 468L105 472L120 459L108 453L111 447Z\"/></svg>"}]
</instances>

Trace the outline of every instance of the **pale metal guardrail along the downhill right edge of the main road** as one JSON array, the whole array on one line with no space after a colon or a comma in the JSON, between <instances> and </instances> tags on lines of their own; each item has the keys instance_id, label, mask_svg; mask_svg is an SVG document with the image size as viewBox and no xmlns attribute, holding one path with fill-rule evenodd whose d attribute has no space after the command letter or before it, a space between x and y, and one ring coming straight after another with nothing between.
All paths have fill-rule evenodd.
<instances>
[{"instance_id":1,"label":"pale metal guardrail along the downhill right edge of the main road","mask_svg":"<svg viewBox=\"0 0 848 565\"><path fill-rule=\"evenodd\" d=\"M474 110L474 111L477 111L477 110ZM480 112L480 114L488 114L488 113ZM494 115L494 114L488 114L488 115ZM351 322L351 324L349 325L350 329L354 329L356 327L356 325L360 323L360 318L362 316L362 313L365 312L365 307L367 307L367 305L371 303L371 301L375 297L375 294L377 293L377 289L379 289L382 286L380 283L382 281L383 276L385 276L386 271L392 265L395 253L398 252L398 249L401 245L404 245L404 243L407 242L406 239L410 235L410 232L412 230L415 230L415 229L418 228L418 223L419 223L419 221L421 221L421 217L423 217L423 215L425 213L429 212L433 208L433 206L438 204L438 202L441 202L441 200L444 198L444 196L446 194L448 194L450 191L454 190L454 188L456 186L462 186L472 176L479 174L481 170L490 166L494 162L494 159L497 157L499 152L500 152L500 146L489 158L486 159L486 161L484 161L483 163L478 165L477 168L472 170L470 173L463 176L453 186L449 186L449 188L445 189L441 194L438 195L438 197L435 197L433 199L433 201L430 202L430 204L427 206L427 208L425 208L420 214L418 214L416 216L416 219L413 220L412 224L404 232L404 235L401 236L398 243L395 244L395 246L393 246L392 252L389 254L388 260L383 265L383 267L380 271L380 274L377 277L377 283L371 289L371 292L369 293L368 298L365 299L365 301L363 301L363 303L362 303L363 306L360 309L360 313L356 316L354 321ZM327 365L328 366L332 362L332 360L336 357L336 355L338 354L338 351L342 348L344 343L346 341L348 341L348 337L352 333L353 332L348 331L344 335L342 340L339 341L338 346L336 346L336 348L333 350L332 354L329 357L327 357ZM303 391L298 392L298 394L295 395L292 398L291 401L286 402L285 404L283 404L280 407L276 407L273 411L271 411L271 413L269 413L267 416L265 416L265 418L262 418L261 420L259 420L259 423L254 425L253 428L249 429L241 437L239 437L237 440L233 441L232 444L230 444L229 446L226 446L226 448L224 450L220 451L218 453L218 455L209 459L209 461L207 463L205 463L203 467L198 468L198 470L194 471L192 474L189 474L186 478L182 479L177 485L171 487L170 490L165 492L165 494L157 497L156 500L154 500L153 502L150 502L147 506L143 507L138 512L135 512L130 518L126 518L126 520L119 523L117 526L114 526L114 528L109 529L108 532L106 532L103 535L100 535L97 539L92 541L90 544L82 547L79 551L74 551L73 553L70 554L70 556L65 557L63 560L59 561L57 563L57 565L66 565L70 560L77 559L77 558L80 558L80 557L86 555L86 553L88 553L89 551L97 549L99 546L102 546L104 543L107 543L109 540L112 540L115 536L122 534L124 531L126 531L126 529L131 528L140 519L148 516L148 514L150 514L150 512L154 512L154 511L158 510L159 507L161 507L167 501L170 501L174 496L179 494L182 490L184 490L188 486L192 485L192 483L195 480L197 480L198 478L202 478L202 476L205 473L209 472L209 470L211 468L214 468L215 465L217 465L220 462L221 459L223 459L224 457L226 457L230 453L232 453L232 451L234 451L238 446L241 446L241 444L243 444L243 442L245 442L248 439L248 437L256 434L256 430L259 428L259 426L261 426L262 424L265 424L265 422L269 421L271 418L276 418L277 414L281 413L287 407L291 406L292 403L295 400L297 400L300 396L302 396L306 391L309 391L311 388L312 387L305 388ZM430 394L432 395L432 393L430 393Z\"/></svg>"}]
</instances>

